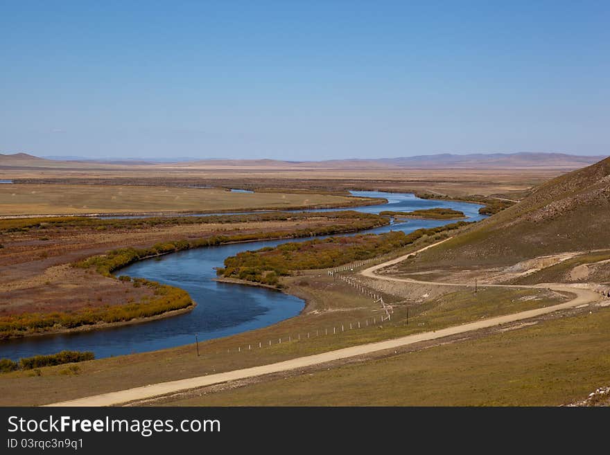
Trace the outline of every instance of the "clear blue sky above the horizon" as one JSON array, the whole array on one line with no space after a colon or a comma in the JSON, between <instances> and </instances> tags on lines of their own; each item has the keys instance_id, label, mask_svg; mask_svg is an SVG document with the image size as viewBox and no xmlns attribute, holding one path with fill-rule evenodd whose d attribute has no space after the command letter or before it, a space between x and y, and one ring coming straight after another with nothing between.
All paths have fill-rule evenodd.
<instances>
[{"instance_id":1,"label":"clear blue sky above the horizon","mask_svg":"<svg viewBox=\"0 0 610 455\"><path fill-rule=\"evenodd\" d=\"M610 153L610 1L0 1L0 152Z\"/></svg>"}]
</instances>

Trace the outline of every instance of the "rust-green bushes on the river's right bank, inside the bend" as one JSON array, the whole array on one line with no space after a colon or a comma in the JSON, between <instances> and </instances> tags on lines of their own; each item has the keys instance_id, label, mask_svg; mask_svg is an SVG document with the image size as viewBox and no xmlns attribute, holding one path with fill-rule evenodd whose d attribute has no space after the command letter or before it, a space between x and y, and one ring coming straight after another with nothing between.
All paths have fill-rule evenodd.
<instances>
[{"instance_id":1,"label":"rust-green bushes on the river's right bank, inside the bend","mask_svg":"<svg viewBox=\"0 0 610 455\"><path fill-rule=\"evenodd\" d=\"M432 229L417 229L412 233L391 231L383 234L329 237L323 240L290 242L256 251L242 251L225 259L225 268L218 275L225 278L279 286L279 277L295 270L327 269L356 260L372 258L406 247L424 235L434 235L465 226L467 222L446 224Z\"/></svg>"}]
</instances>

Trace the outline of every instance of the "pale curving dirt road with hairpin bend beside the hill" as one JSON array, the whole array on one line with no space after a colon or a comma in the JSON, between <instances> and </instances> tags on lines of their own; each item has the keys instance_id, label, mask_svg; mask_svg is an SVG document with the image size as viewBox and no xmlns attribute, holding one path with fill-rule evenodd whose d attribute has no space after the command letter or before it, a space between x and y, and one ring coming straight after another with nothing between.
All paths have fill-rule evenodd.
<instances>
[{"instance_id":1,"label":"pale curving dirt road with hairpin bend beside the hill","mask_svg":"<svg viewBox=\"0 0 610 455\"><path fill-rule=\"evenodd\" d=\"M449 239L446 239L449 240ZM442 242L446 242L443 240ZM431 244L428 247L422 248L419 251L434 247L442 242ZM383 264L374 265L361 271L360 273L364 276L369 276L381 280L390 281L403 281L406 283L425 283L425 284L436 284L440 286L455 286L454 283L435 283L430 281L417 281L410 280L408 278L393 278L390 276L377 276L374 272L388 265L394 265L397 262L401 262L406 258L412 256L414 253L401 256L400 258L392 259ZM463 285L467 286L467 285ZM103 393L102 395L94 395L85 398L78 398L76 400L69 400L64 402L58 402L49 404L47 406L115 406L122 403L144 400L147 398L153 398L159 395L166 395L168 393L177 393L180 391L186 391L189 389L198 389L203 386L209 386L212 384L220 384L222 382L242 380L248 377L255 377L261 375L268 375L270 373L279 373L282 371L290 371L297 368L304 368L307 366L313 366L317 364L324 364L338 359L346 359L348 357L356 357L358 355L365 355L375 353L377 351L388 350L406 346L408 344L419 343L420 341L429 341L442 337L448 337L454 334L460 334L463 332L470 332L471 330L479 330L482 328L489 328L494 325L510 323L514 321L521 321L523 319L529 319L541 314L547 314L557 310L565 310L571 307L577 307L578 305L584 305L591 303L600 298L599 294L593 292L591 289L584 289L579 287L572 287L569 285L560 284L545 284L536 286L519 286L519 285L485 285L494 287L547 287L557 291L571 292L576 294L573 300L559 303L559 305L552 305L550 307L537 308L535 310L523 311L515 314L507 314L505 316L496 316L489 319L482 319L471 323L465 323L462 325L455 325L453 327L444 328L442 330L436 330L435 332L422 332L418 334L408 335L406 337L400 337L396 339L390 339L386 341L377 341L376 343L363 344L359 346L352 346L350 348L343 348L339 350L329 351L328 353L308 355L306 357L297 357L296 359L286 360L284 362L277 362L275 364L254 366L252 368L243 368L241 370L227 371L226 373L217 373L214 375L206 375L199 377L191 377L189 379L177 380L171 382L161 382L159 384L150 384L148 386L135 387L134 389L127 389L123 391L116 391L110 393Z\"/></svg>"}]
</instances>

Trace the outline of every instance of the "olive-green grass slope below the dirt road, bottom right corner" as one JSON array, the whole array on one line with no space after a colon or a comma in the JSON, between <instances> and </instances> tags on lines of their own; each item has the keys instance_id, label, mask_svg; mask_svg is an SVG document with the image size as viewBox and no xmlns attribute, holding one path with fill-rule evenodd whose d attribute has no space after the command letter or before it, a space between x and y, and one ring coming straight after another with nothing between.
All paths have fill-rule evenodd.
<instances>
[{"instance_id":1,"label":"olive-green grass slope below the dirt road, bottom right corner","mask_svg":"<svg viewBox=\"0 0 610 455\"><path fill-rule=\"evenodd\" d=\"M556 406L608 384L610 310L386 359L166 402L172 406Z\"/></svg>"}]
</instances>

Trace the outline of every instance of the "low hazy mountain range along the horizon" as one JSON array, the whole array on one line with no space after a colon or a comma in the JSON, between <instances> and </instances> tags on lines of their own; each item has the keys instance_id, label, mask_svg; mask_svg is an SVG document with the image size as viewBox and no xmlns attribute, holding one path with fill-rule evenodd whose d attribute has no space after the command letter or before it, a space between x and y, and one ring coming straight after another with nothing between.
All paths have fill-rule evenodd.
<instances>
[{"instance_id":1,"label":"low hazy mountain range along the horizon","mask_svg":"<svg viewBox=\"0 0 610 455\"><path fill-rule=\"evenodd\" d=\"M573 170L589 166L604 156L586 157L564 153L476 153L434 154L416 157L376 159L333 159L326 161L281 161L273 159L202 159L168 158L147 161L141 159L93 160L79 157L35 157L26 153L0 154L0 167L26 168L95 168L103 165L129 167L150 166L161 168L297 168L297 169L371 169L371 168L553 168Z\"/></svg>"}]
</instances>

